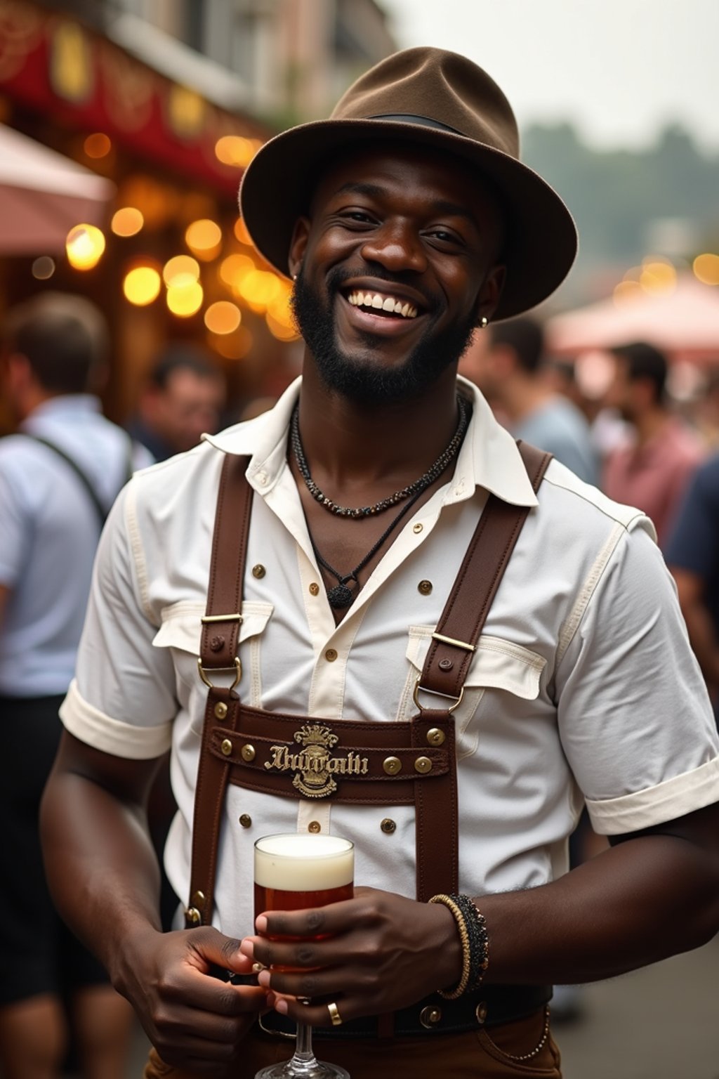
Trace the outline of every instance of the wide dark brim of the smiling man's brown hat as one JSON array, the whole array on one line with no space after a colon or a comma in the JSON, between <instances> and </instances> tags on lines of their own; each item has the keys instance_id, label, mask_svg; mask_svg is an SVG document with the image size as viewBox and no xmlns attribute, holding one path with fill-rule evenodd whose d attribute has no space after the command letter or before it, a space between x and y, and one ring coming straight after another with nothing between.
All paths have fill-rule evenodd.
<instances>
[{"instance_id":1,"label":"wide dark brim of the smiling man's brown hat","mask_svg":"<svg viewBox=\"0 0 719 1079\"><path fill-rule=\"evenodd\" d=\"M502 251L507 278L493 322L528 311L561 285L577 255L577 229L549 183L510 154L474 139L393 120L318 120L276 135L258 151L240 185L240 213L255 247L276 270L288 275L292 232L308 211L319 163L387 140L454 153L494 186L508 238Z\"/></svg>"}]
</instances>

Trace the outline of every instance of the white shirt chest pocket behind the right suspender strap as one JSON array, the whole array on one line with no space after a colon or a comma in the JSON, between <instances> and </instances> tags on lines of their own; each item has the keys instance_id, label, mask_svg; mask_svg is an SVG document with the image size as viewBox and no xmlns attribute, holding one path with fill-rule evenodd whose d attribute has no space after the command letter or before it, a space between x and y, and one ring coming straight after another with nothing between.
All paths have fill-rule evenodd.
<instances>
[{"instance_id":1,"label":"white shirt chest pocket behind the right suspender strap","mask_svg":"<svg viewBox=\"0 0 719 1079\"><path fill-rule=\"evenodd\" d=\"M409 720L416 714L414 692L421 674L427 652L431 643L433 626L410 626L406 658L407 677L400 700L398 719ZM503 689L523 700L536 700L539 682L547 660L513 641L500 637L482 634L472 656L461 701L454 710L457 733L457 760L471 756L476 750L481 729L481 710L487 689ZM443 697L420 694L420 702L441 708L447 701ZM479 711L479 714L478 714Z\"/></svg>"}]
</instances>

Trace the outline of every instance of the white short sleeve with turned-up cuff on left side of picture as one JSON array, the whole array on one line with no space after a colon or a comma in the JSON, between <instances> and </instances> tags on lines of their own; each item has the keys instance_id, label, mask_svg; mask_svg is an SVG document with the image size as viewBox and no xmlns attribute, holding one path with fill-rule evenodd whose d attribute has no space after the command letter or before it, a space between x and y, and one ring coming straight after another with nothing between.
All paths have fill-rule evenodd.
<instances>
[{"instance_id":1,"label":"white short sleeve with turned-up cuff on left side of picture","mask_svg":"<svg viewBox=\"0 0 719 1079\"><path fill-rule=\"evenodd\" d=\"M136 482L117 498L100 540L75 678L60 716L96 749L149 759L169 748L178 704L167 650L152 646L157 625L146 596Z\"/></svg>"}]
</instances>

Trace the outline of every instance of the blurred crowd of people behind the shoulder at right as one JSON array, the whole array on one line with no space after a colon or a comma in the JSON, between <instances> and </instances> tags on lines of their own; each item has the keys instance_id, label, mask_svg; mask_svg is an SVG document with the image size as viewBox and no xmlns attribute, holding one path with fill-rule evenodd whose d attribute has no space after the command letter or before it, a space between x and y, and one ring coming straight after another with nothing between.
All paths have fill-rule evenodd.
<instances>
[{"instance_id":1,"label":"blurred crowd of people behind the shoulder at right","mask_svg":"<svg viewBox=\"0 0 719 1079\"><path fill-rule=\"evenodd\" d=\"M515 437L651 518L719 715L719 368L679 397L654 344L558 361L525 316L475 333L459 371Z\"/></svg>"}]
</instances>

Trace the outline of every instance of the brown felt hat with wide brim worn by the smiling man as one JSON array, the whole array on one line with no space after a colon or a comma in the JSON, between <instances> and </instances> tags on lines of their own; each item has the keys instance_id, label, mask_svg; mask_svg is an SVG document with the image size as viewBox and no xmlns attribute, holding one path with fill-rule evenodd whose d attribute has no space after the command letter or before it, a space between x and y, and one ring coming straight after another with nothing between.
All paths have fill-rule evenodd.
<instances>
[{"instance_id":1,"label":"brown felt hat with wide brim worn by the smiling man","mask_svg":"<svg viewBox=\"0 0 719 1079\"><path fill-rule=\"evenodd\" d=\"M377 139L451 152L476 167L506 216L507 281L495 319L518 315L550 296L577 254L577 229L557 193L520 159L511 106L466 56L405 49L367 71L329 120L277 135L250 162L240 213L261 254L288 273L294 223L306 214L323 166Z\"/></svg>"}]
</instances>

